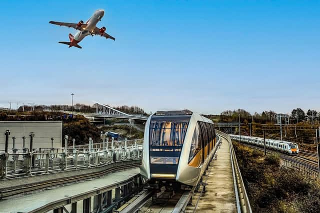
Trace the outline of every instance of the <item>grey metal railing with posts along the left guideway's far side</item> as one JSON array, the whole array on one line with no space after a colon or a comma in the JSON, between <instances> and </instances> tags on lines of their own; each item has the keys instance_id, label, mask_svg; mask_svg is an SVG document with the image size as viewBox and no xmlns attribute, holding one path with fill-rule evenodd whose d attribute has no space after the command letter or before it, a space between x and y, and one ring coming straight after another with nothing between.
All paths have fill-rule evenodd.
<instances>
[{"instance_id":1,"label":"grey metal railing with posts along the left guideway's far side","mask_svg":"<svg viewBox=\"0 0 320 213\"><path fill-rule=\"evenodd\" d=\"M97 143L91 147L80 145L67 149L42 148L40 152L3 153L0 155L0 179L98 167L142 157L143 139L113 143L112 146L111 141L108 147Z\"/></svg>"}]
</instances>

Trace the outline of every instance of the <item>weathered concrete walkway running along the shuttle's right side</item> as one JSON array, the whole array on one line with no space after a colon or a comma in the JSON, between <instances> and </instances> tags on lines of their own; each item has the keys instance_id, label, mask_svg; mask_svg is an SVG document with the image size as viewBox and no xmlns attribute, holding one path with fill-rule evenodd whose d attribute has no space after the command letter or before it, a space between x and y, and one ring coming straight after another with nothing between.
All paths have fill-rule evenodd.
<instances>
[{"instance_id":1,"label":"weathered concrete walkway running along the shuttle's right side","mask_svg":"<svg viewBox=\"0 0 320 213\"><path fill-rule=\"evenodd\" d=\"M216 151L217 160L208 169L206 192L201 196L196 212L231 213L236 212L235 191L228 142L221 138L221 146Z\"/></svg>"}]
</instances>

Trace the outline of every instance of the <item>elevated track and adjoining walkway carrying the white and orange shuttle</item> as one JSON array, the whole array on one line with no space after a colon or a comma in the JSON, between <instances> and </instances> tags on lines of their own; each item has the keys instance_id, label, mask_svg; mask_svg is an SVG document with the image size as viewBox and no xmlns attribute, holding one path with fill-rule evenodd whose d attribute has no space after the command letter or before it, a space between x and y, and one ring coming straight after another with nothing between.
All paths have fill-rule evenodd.
<instances>
[{"instance_id":1,"label":"elevated track and adjoining walkway carrying the white and orange shuttle","mask_svg":"<svg viewBox=\"0 0 320 213\"><path fill-rule=\"evenodd\" d=\"M154 191L145 191L141 193L138 197L129 201L128 205L120 207L116 212L117 213L191 213L191 212L219 212L224 210L226 212L237 212L237 213L251 213L250 204L245 192L244 183L242 181L241 173L239 171L235 153L231 144L230 138L222 133L217 131L218 135L218 143L214 147L213 155L211 161L207 165L207 170L203 174L201 180L198 184L193 188L185 188L182 191L174 192L171 189L162 189L161 192L156 193ZM229 158L224 158L224 154L221 153L221 161L215 160L216 155L219 155L221 141L224 140L223 145L225 146L226 150L229 150ZM226 156L227 157L227 156ZM213 160L214 159L214 160ZM226 165L220 165L226 164ZM212 167L213 166L213 167ZM217 168L214 166L220 167L222 166L221 171L228 170L223 168L223 166L229 166L230 171L230 179L228 179L229 187L226 188L226 185L220 184L221 180L216 177L219 174L217 172ZM221 176L222 179L225 180L225 176ZM220 184L220 185L219 185ZM218 201L218 197L215 196L222 196L223 189L217 189L218 191L214 194L211 190L207 191L210 187L214 188L215 185L219 185L229 194L228 201L224 200ZM221 194L222 193L222 194ZM208 203L205 202L207 198L203 196L208 196L211 199L215 200L214 205L218 205L219 207L214 208L211 206L210 208L207 207ZM151 199L152 198L152 199ZM203 203L204 202L204 203ZM226 203L229 202L228 205L233 205L234 209L223 209L225 208ZM210 202L211 203L211 202ZM212 204L211 204L212 205ZM220 209L219 209L220 208Z\"/></svg>"}]
</instances>

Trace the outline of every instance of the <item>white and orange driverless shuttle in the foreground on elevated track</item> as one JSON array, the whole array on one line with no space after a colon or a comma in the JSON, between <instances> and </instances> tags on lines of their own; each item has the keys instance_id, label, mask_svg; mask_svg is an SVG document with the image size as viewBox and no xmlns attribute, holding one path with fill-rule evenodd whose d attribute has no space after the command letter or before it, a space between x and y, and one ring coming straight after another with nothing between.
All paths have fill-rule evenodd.
<instances>
[{"instance_id":1,"label":"white and orange driverless shuttle in the foreground on elevated track","mask_svg":"<svg viewBox=\"0 0 320 213\"><path fill-rule=\"evenodd\" d=\"M215 146L214 124L188 110L157 111L145 123L141 176L162 186L194 186Z\"/></svg>"}]
</instances>

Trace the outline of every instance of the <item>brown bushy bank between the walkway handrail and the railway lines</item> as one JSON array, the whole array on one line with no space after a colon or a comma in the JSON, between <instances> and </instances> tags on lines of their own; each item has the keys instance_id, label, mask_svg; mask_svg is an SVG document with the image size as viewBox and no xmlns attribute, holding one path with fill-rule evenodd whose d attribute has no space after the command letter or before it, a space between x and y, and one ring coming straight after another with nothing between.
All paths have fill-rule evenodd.
<instances>
[{"instance_id":1,"label":"brown bushy bank between the walkway handrail and the railway lines","mask_svg":"<svg viewBox=\"0 0 320 213\"><path fill-rule=\"evenodd\" d=\"M293 169L280 166L276 154L263 156L233 143L251 208L256 213L316 213L320 185Z\"/></svg>"}]
</instances>

